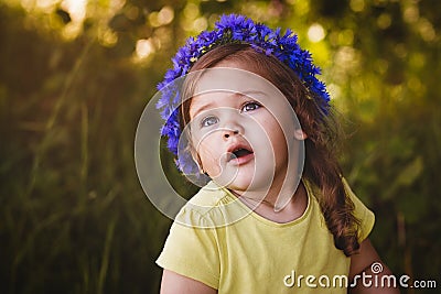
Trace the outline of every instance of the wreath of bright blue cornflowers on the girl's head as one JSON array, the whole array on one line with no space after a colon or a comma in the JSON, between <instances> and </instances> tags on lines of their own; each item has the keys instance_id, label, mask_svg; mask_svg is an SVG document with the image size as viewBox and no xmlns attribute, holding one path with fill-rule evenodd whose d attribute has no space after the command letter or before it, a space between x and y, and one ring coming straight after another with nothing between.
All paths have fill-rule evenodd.
<instances>
[{"instance_id":1,"label":"wreath of bright blue cornflowers on the girl's head","mask_svg":"<svg viewBox=\"0 0 441 294\"><path fill-rule=\"evenodd\" d=\"M196 174L197 166L190 154L179 154L182 130L178 112L181 97L179 89L171 85L175 79L185 76L195 62L214 47L228 43L244 43L262 54L272 54L299 76L322 112L324 115L329 112L330 95L324 83L315 77L320 75L320 68L312 63L311 54L299 46L298 37L291 30L287 30L284 34L280 31L280 28L271 30L240 14L222 15L213 31L203 31L196 37L189 37L185 45L172 58L173 68L165 73L163 81L158 85L161 98L157 108L165 121L161 135L168 138L166 145L178 156L176 165L183 173Z\"/></svg>"}]
</instances>

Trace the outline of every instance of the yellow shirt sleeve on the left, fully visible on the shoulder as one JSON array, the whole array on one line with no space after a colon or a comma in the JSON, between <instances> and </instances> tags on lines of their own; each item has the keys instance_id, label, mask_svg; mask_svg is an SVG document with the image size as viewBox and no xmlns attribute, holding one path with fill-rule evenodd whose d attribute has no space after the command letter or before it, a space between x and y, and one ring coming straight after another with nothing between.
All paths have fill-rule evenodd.
<instances>
[{"instance_id":1,"label":"yellow shirt sleeve on the left, fully visible on the shoulder","mask_svg":"<svg viewBox=\"0 0 441 294\"><path fill-rule=\"evenodd\" d=\"M216 229L174 222L157 264L213 288L219 283Z\"/></svg>"}]
</instances>

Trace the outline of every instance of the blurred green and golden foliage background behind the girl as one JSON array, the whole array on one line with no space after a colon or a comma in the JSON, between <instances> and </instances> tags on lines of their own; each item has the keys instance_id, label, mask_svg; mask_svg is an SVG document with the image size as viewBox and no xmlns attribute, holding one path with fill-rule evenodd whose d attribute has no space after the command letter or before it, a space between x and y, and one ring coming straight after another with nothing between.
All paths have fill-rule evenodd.
<instances>
[{"instance_id":1,"label":"blurred green and golden foliage background behind the girl","mask_svg":"<svg viewBox=\"0 0 441 294\"><path fill-rule=\"evenodd\" d=\"M158 292L171 221L138 183L137 122L185 37L228 12L299 34L345 118L373 242L395 273L440 286L441 2L4 0L2 293Z\"/></svg>"}]
</instances>

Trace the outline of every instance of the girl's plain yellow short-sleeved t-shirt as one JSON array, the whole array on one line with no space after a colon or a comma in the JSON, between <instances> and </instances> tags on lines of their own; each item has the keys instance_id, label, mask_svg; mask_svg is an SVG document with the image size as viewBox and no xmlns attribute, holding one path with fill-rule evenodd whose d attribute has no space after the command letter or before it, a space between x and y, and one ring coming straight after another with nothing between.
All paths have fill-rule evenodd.
<instances>
[{"instance_id":1,"label":"girl's plain yellow short-sleeved t-shirt","mask_svg":"<svg viewBox=\"0 0 441 294\"><path fill-rule=\"evenodd\" d=\"M346 293L351 259L334 246L316 189L303 183L305 211L278 224L211 182L181 209L157 263L218 293ZM362 241L374 226L374 214L344 183L361 220ZM223 209L228 206L234 209Z\"/></svg>"}]
</instances>

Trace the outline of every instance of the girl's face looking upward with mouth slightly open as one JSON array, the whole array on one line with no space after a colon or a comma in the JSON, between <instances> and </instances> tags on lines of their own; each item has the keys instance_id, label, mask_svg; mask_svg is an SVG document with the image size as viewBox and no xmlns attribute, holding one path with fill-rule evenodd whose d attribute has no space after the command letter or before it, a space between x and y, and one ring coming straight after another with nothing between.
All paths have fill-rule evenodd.
<instances>
[{"instance_id":1,"label":"girl's face looking upward with mouth slightly open","mask_svg":"<svg viewBox=\"0 0 441 294\"><path fill-rule=\"evenodd\" d=\"M292 108L247 66L222 62L215 68L197 81L190 105L194 157L213 181L236 192L283 183L289 151L298 152Z\"/></svg>"}]
</instances>

